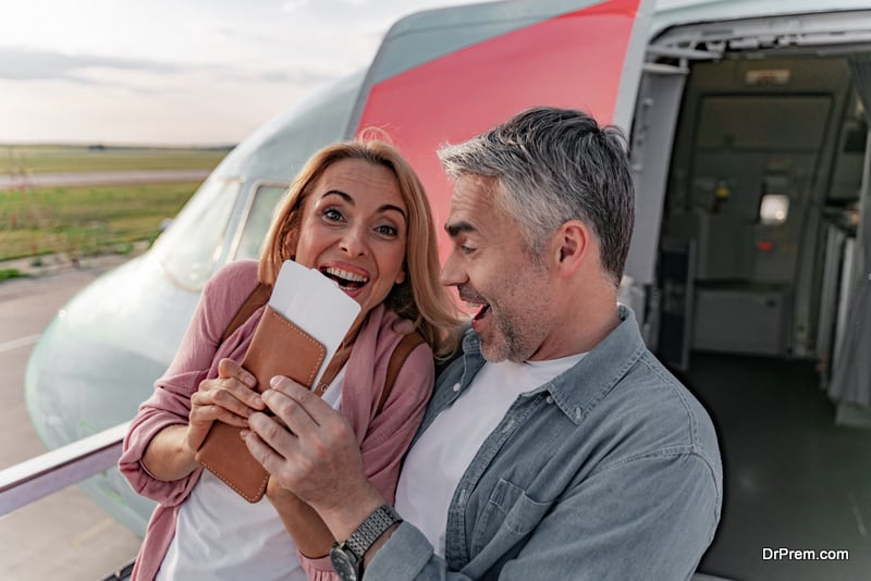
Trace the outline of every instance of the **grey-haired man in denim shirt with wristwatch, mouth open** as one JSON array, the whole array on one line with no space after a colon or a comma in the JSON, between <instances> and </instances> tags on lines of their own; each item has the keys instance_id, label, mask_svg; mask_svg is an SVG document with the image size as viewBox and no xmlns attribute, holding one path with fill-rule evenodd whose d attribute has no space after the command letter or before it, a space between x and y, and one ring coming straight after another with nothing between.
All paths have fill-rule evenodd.
<instances>
[{"instance_id":1,"label":"grey-haired man in denim shirt with wristwatch, mouth open","mask_svg":"<svg viewBox=\"0 0 871 581\"><path fill-rule=\"evenodd\" d=\"M618 132L537 108L440 157L455 181L442 279L477 313L396 510L341 416L290 380L263 399L293 434L255 413L249 449L341 541L343 579L689 578L722 468L710 418L616 302L634 221Z\"/></svg>"}]
</instances>

